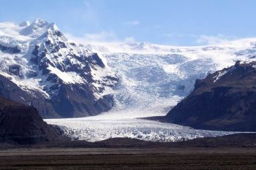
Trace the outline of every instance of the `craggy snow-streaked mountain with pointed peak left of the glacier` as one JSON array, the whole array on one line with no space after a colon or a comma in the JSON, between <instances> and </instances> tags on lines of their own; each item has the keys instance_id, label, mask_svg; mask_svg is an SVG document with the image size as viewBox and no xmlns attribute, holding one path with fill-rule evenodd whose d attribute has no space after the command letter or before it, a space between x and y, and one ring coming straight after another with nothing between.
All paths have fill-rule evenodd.
<instances>
[{"instance_id":1,"label":"craggy snow-streaked mountain with pointed peak left of the glacier","mask_svg":"<svg viewBox=\"0 0 256 170\"><path fill-rule=\"evenodd\" d=\"M0 23L0 95L36 107L42 117L85 117L113 107L118 79L103 61L55 23Z\"/></svg>"}]
</instances>

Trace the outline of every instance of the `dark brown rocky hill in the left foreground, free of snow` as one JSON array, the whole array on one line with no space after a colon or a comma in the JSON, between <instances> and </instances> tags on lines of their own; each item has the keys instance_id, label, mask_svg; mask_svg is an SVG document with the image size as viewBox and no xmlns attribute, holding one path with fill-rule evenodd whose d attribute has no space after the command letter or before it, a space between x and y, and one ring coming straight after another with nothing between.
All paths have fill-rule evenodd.
<instances>
[{"instance_id":1,"label":"dark brown rocky hill in the left foreground, free of snow","mask_svg":"<svg viewBox=\"0 0 256 170\"><path fill-rule=\"evenodd\" d=\"M59 139L59 134L42 120L37 109L0 97L0 142L34 144Z\"/></svg>"}]
</instances>

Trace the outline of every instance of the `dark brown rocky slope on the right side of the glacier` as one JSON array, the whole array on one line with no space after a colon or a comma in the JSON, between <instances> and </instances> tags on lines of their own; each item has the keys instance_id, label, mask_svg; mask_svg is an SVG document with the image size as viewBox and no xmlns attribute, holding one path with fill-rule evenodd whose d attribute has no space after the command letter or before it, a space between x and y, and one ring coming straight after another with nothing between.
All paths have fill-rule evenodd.
<instances>
[{"instance_id":1,"label":"dark brown rocky slope on the right side of the glacier","mask_svg":"<svg viewBox=\"0 0 256 170\"><path fill-rule=\"evenodd\" d=\"M162 120L192 128L256 131L256 62L237 61L197 80L195 89Z\"/></svg>"}]
</instances>

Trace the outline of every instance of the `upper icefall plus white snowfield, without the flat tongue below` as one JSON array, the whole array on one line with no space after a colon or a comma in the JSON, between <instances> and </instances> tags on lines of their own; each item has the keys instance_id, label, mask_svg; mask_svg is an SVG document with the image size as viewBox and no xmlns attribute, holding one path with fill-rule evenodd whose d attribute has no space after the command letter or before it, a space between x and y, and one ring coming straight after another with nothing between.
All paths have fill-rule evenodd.
<instances>
[{"instance_id":1,"label":"upper icefall plus white snowfield, without the flat tongue below","mask_svg":"<svg viewBox=\"0 0 256 170\"><path fill-rule=\"evenodd\" d=\"M166 115L193 90L196 79L238 60L255 61L255 45L256 38L198 47L138 42L91 43L87 47L102 53L120 77L111 113L147 117Z\"/></svg>"}]
</instances>

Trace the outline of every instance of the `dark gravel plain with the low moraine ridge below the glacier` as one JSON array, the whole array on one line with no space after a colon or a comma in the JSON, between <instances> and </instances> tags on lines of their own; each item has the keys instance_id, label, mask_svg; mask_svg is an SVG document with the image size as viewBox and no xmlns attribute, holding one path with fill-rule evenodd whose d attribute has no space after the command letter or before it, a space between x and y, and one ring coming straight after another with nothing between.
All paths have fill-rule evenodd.
<instances>
[{"instance_id":1,"label":"dark gravel plain with the low moraine ridge below the glacier","mask_svg":"<svg viewBox=\"0 0 256 170\"><path fill-rule=\"evenodd\" d=\"M0 144L0 169L256 169L256 134L145 142Z\"/></svg>"}]
</instances>

